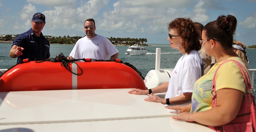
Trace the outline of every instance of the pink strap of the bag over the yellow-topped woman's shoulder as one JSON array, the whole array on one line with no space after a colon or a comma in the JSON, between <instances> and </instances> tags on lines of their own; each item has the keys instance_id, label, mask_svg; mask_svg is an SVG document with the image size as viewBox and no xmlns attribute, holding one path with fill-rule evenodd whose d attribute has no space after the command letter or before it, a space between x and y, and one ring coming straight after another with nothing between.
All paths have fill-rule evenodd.
<instances>
[{"instance_id":1,"label":"pink strap of the bag over the yellow-topped woman's shoulder","mask_svg":"<svg viewBox=\"0 0 256 132\"><path fill-rule=\"evenodd\" d=\"M243 78L244 78L244 83L246 85L245 94L252 94L254 92L254 90L252 89L252 85L251 85L251 82L250 82L250 79L249 79L248 72L247 72L246 68L244 68L244 66L241 63L239 63L238 61L235 61L235 60L227 60L227 61L223 62L222 64L220 64L220 66L227 63L227 62L230 62L230 61L236 63L238 65L239 69L242 72L242 75L243 75ZM217 92L216 92L216 88L215 88L215 86L216 86L216 75L217 75L217 72L218 72L220 66L215 71L215 74L214 74L213 80L212 80L212 92L214 92L214 95L213 95L214 97L213 98L215 100L217 98ZM245 74L244 74L244 72L245 72ZM250 101L251 101L250 99L247 100L247 102L250 102ZM216 106L217 106L217 100L215 102L216 102Z\"/></svg>"}]
</instances>

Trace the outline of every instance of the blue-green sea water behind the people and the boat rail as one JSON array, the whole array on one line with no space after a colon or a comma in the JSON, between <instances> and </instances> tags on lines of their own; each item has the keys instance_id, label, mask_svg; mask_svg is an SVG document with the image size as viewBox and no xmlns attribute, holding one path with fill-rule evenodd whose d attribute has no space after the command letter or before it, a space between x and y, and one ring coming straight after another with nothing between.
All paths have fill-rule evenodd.
<instances>
[{"instance_id":1,"label":"blue-green sea water behind the people and the boat rail","mask_svg":"<svg viewBox=\"0 0 256 132\"><path fill-rule=\"evenodd\" d=\"M148 44L148 43L147 43ZM134 65L145 77L148 71L155 69L155 58L156 58L156 48L161 48L161 68L174 68L178 59L182 54L177 49L172 49L170 45L167 44L148 44L151 46L146 46L147 54L127 54L126 49L128 46L115 46L119 55L118 58L123 62L128 62ZM8 69L16 64L17 58L10 58L9 52L12 43L0 43L0 69ZM68 56L74 45L50 45L50 58L55 58L60 53L64 56ZM254 58L256 54L256 49L246 49L249 68L256 69L256 59ZM254 77L254 87L256 87L256 75ZM255 89L255 88L254 88ZM256 92L254 93L256 95Z\"/></svg>"}]
</instances>

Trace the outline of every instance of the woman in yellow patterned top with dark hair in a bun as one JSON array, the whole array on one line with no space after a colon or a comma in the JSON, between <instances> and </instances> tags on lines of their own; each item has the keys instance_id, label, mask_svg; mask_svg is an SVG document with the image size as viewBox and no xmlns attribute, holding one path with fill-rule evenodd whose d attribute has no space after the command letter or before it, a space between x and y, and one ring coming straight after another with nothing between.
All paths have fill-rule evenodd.
<instances>
[{"instance_id":1,"label":"woman in yellow patterned top with dark hair in a bun","mask_svg":"<svg viewBox=\"0 0 256 132\"><path fill-rule=\"evenodd\" d=\"M209 126L225 125L236 118L245 93L245 83L242 72L234 62L226 62L217 72L218 106L212 108L212 80L220 64L226 60L235 60L245 67L242 59L232 49L236 25L237 19L231 15L219 16L216 21L205 25L200 42L206 53L216 58L217 63L205 76L196 81L191 105L166 107L179 110L180 114L172 118L196 121Z\"/></svg>"}]
</instances>

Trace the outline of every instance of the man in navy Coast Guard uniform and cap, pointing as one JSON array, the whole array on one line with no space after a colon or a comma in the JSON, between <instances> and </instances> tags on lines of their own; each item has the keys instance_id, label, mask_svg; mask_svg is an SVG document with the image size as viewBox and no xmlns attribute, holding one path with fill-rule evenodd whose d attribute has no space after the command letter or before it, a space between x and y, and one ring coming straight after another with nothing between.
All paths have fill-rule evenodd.
<instances>
[{"instance_id":1,"label":"man in navy Coast Guard uniform and cap, pointing","mask_svg":"<svg viewBox=\"0 0 256 132\"><path fill-rule=\"evenodd\" d=\"M26 58L30 61L36 58L50 58L50 43L41 33L45 26L45 15L40 12L35 13L31 24L32 28L29 31L20 34L13 41L10 57L18 57L17 63Z\"/></svg>"}]
</instances>

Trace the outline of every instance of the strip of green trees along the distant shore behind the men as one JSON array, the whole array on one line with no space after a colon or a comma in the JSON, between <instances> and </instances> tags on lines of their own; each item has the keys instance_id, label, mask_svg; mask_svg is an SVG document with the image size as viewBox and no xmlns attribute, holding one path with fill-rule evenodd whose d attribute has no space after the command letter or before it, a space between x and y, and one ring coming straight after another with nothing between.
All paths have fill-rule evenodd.
<instances>
[{"instance_id":1,"label":"strip of green trees along the distant shore behind the men","mask_svg":"<svg viewBox=\"0 0 256 132\"><path fill-rule=\"evenodd\" d=\"M14 35L14 36L18 36ZM58 43L58 44L75 44L77 42L78 39L82 38L80 36L74 36L74 37L70 37L68 36L59 36L59 37L54 37L54 36L45 36L50 43ZM12 35L5 35L5 37L1 37L1 41L13 41L15 38L12 38ZM116 44L116 45L143 45L143 46L147 46L145 43L147 42L146 38L114 38L114 37L110 37L108 38L112 44ZM144 43L145 42L145 43Z\"/></svg>"}]
</instances>

